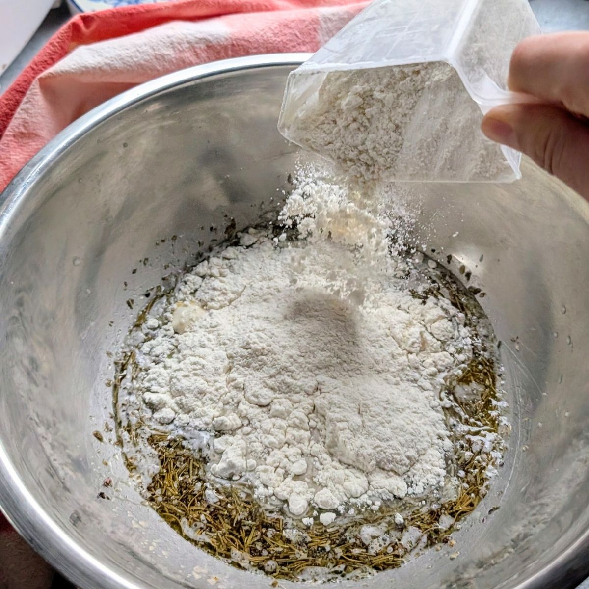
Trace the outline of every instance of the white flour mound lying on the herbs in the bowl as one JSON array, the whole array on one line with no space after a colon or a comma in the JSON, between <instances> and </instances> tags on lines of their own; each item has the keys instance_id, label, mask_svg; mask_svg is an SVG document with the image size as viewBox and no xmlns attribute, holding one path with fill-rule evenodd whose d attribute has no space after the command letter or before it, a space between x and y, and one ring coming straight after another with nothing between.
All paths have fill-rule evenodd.
<instances>
[{"instance_id":1,"label":"white flour mound lying on the herbs in the bowl","mask_svg":"<svg viewBox=\"0 0 589 589\"><path fill-rule=\"evenodd\" d=\"M155 421L216 432L211 475L249 481L295 516L319 508L329 525L346 504L441 495L453 447L439 393L472 350L464 316L415 299L398 260L360 272L357 247L379 253L385 221L350 213L329 184L312 188L284 216L314 208L307 230L333 239L252 230L201 263L166 323L146 323L137 384ZM348 212L329 213L336 201Z\"/></svg>"}]
</instances>

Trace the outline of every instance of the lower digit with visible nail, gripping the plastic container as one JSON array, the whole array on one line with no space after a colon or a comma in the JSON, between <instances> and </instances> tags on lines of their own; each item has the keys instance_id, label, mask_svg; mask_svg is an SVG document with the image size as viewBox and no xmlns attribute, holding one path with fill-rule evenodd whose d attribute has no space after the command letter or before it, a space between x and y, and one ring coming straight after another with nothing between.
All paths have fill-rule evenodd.
<instances>
[{"instance_id":1,"label":"lower digit with visible nail, gripping the plastic container","mask_svg":"<svg viewBox=\"0 0 589 589\"><path fill-rule=\"evenodd\" d=\"M482 132L529 155L589 199L589 127L558 107L506 104L485 115Z\"/></svg>"}]
</instances>

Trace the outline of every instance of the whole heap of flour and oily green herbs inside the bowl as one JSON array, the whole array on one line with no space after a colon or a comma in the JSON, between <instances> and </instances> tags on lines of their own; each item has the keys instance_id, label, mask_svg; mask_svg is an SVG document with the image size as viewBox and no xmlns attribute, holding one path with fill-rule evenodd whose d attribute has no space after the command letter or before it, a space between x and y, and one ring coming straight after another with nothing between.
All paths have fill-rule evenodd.
<instances>
[{"instance_id":1,"label":"whole heap of flour and oily green herbs inside the bowl","mask_svg":"<svg viewBox=\"0 0 589 589\"><path fill-rule=\"evenodd\" d=\"M399 566L449 537L502 459L490 325L408 245L414 217L378 202L302 172L272 223L131 330L115 382L140 491L241 568Z\"/></svg>"}]
</instances>

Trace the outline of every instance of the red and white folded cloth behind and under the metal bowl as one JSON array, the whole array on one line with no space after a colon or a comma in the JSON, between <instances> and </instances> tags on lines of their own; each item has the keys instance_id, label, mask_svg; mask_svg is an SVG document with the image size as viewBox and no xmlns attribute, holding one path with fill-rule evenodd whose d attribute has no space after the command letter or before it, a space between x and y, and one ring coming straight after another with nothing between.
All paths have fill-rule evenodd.
<instances>
[{"instance_id":1,"label":"red and white folded cloth behind and under the metal bowl","mask_svg":"<svg viewBox=\"0 0 589 589\"><path fill-rule=\"evenodd\" d=\"M0 97L0 191L59 131L119 92L216 59L316 51L366 4L177 0L75 16ZM50 583L0 514L0 589Z\"/></svg>"}]
</instances>

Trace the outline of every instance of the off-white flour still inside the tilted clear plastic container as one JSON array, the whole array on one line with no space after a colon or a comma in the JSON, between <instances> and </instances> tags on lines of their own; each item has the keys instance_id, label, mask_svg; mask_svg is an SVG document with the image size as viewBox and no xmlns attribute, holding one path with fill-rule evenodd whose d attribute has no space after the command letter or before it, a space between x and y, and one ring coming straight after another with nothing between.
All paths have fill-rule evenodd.
<instances>
[{"instance_id":1,"label":"off-white flour still inside the tilted clear plastic container","mask_svg":"<svg viewBox=\"0 0 589 589\"><path fill-rule=\"evenodd\" d=\"M362 183L498 181L511 168L481 117L454 68L432 62L328 73L287 135Z\"/></svg>"}]
</instances>

